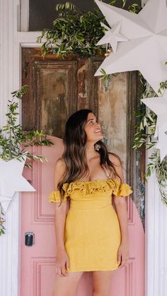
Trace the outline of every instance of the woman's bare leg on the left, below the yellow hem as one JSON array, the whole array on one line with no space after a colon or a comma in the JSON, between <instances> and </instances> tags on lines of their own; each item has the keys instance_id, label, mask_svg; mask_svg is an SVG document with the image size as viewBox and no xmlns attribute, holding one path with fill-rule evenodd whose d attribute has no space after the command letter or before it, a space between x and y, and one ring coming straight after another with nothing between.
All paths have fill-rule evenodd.
<instances>
[{"instance_id":1,"label":"woman's bare leg on the left, below the yellow hem","mask_svg":"<svg viewBox=\"0 0 167 296\"><path fill-rule=\"evenodd\" d=\"M52 296L74 296L83 273L83 271L70 272L68 276L59 276L56 274Z\"/></svg>"}]
</instances>

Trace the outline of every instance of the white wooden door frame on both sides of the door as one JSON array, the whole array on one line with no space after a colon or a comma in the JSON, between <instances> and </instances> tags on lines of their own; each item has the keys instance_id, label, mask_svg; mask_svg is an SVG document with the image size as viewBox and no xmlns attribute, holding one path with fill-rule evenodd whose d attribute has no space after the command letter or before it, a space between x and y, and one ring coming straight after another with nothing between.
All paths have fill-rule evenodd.
<instances>
[{"instance_id":1,"label":"white wooden door frame on both sides of the door","mask_svg":"<svg viewBox=\"0 0 167 296\"><path fill-rule=\"evenodd\" d=\"M18 32L20 11L20 0L0 0L0 44L3 45L0 48L0 126L5 122L7 98L21 86L21 47L40 47L36 43L40 32ZM27 11L24 13L26 15ZM146 165L148 158L147 152ZM6 213L6 235L0 237L0 254L3 254L0 264L1 296L20 296L20 216L21 199L16 194ZM152 175L146 184L145 296L163 296L167 292L165 225L167 208L160 201L156 178Z\"/></svg>"}]
</instances>

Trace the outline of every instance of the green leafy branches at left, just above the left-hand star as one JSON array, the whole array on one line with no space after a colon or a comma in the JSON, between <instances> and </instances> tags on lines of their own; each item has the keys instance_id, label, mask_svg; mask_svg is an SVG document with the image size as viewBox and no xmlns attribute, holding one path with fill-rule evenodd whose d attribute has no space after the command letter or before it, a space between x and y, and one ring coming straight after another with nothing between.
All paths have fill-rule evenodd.
<instances>
[{"instance_id":1,"label":"green leafy branches at left, just above the left-hand star","mask_svg":"<svg viewBox=\"0 0 167 296\"><path fill-rule=\"evenodd\" d=\"M28 85L24 85L21 90L16 90L12 94L12 100L8 100L8 112L6 113L6 125L0 129L0 158L11 160L16 158L23 160L26 156L29 160L47 160L42 155L33 155L26 148L28 146L51 146L52 143L47 139L42 131L23 131L18 121L18 102L14 99L22 99L28 90ZM30 164L27 166L30 167Z\"/></svg>"}]
</instances>

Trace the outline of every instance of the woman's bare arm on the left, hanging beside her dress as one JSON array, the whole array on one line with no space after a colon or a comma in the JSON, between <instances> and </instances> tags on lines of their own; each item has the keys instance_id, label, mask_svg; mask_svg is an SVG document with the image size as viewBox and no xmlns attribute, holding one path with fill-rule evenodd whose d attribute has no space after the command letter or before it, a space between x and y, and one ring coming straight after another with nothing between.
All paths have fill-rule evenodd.
<instances>
[{"instance_id":1,"label":"woman's bare arm on the left, hanging beside her dress","mask_svg":"<svg viewBox=\"0 0 167 296\"><path fill-rule=\"evenodd\" d=\"M64 163L61 159L57 160L54 172L54 189L57 190L57 184L64 174ZM64 227L66 222L66 216L68 211L68 201L62 201L61 206L59 203L55 203L54 207L54 228L56 235L56 249L57 249L57 259L56 259L56 273L59 276L67 276L67 271L69 269L69 259L67 252L64 248Z\"/></svg>"}]
</instances>

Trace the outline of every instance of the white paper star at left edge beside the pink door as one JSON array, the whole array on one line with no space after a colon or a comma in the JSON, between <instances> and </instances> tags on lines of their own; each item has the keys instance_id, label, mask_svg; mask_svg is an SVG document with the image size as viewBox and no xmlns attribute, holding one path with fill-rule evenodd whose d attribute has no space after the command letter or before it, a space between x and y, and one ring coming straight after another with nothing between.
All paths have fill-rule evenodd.
<instances>
[{"instance_id":1,"label":"white paper star at left edge beside the pink door","mask_svg":"<svg viewBox=\"0 0 167 296\"><path fill-rule=\"evenodd\" d=\"M22 176L25 161L0 159L0 203L7 210L16 191L35 191L32 185Z\"/></svg>"}]
</instances>

